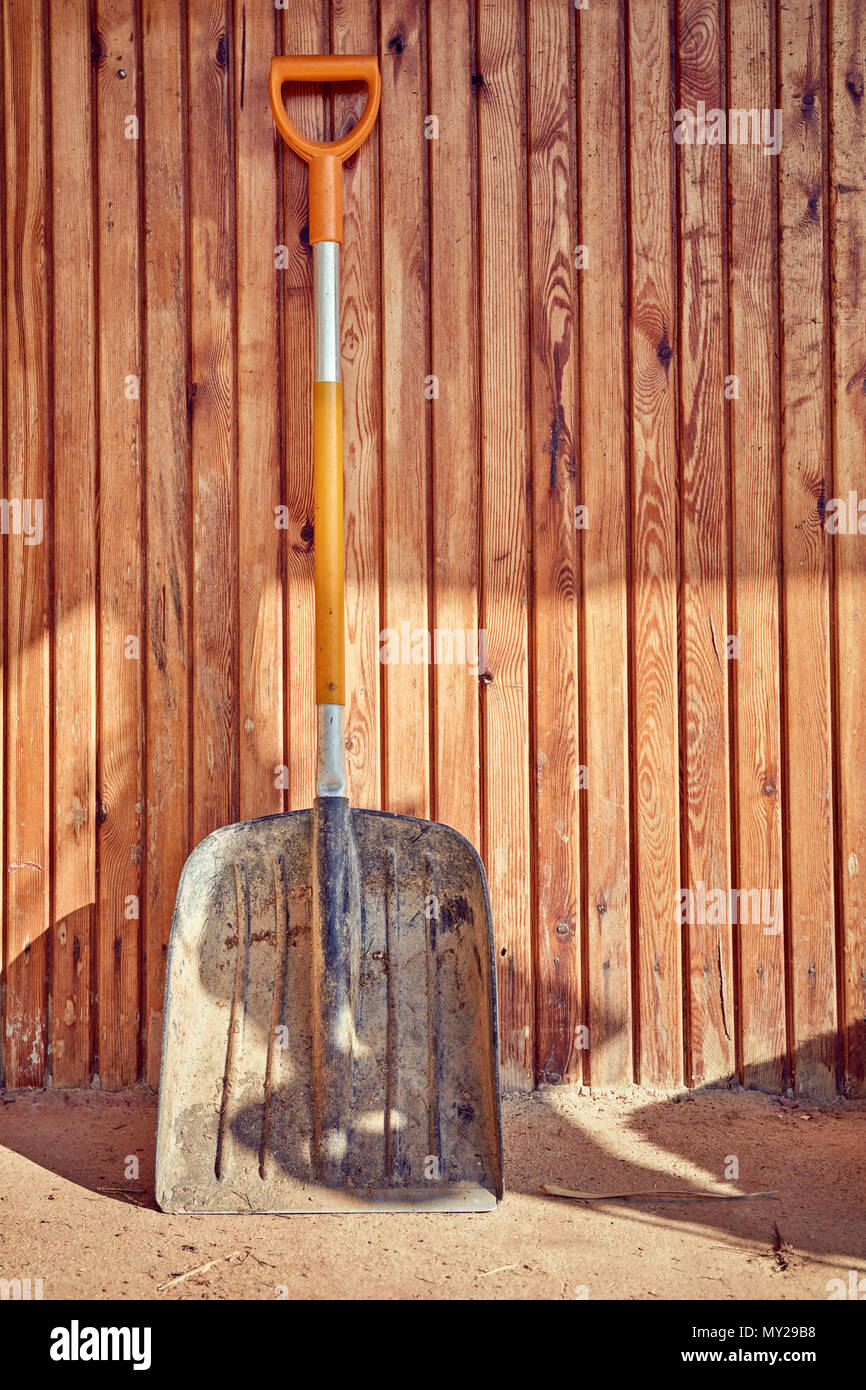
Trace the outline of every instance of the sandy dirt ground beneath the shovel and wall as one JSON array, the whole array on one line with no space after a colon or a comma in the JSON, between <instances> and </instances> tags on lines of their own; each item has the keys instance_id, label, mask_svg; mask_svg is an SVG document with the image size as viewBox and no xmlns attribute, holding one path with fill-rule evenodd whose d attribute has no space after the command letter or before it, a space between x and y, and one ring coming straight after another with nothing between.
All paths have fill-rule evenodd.
<instances>
[{"instance_id":1,"label":"sandy dirt ground beneath the shovel and wall","mask_svg":"<svg viewBox=\"0 0 866 1390\"><path fill-rule=\"evenodd\" d=\"M474 1216L164 1216L154 1130L147 1091L0 1093L0 1279L44 1298L826 1300L856 1270L866 1294L862 1102L509 1097L507 1195ZM545 1182L777 1195L587 1204Z\"/></svg>"}]
</instances>

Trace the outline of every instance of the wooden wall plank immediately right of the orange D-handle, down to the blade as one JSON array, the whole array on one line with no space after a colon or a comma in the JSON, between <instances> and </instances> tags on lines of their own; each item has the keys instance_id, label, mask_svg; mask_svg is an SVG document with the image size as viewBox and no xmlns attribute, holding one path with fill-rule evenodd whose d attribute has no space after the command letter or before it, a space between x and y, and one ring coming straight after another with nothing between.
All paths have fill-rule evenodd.
<instances>
[{"instance_id":1,"label":"wooden wall plank immediately right of the orange D-handle, down to the blade","mask_svg":"<svg viewBox=\"0 0 866 1390\"><path fill-rule=\"evenodd\" d=\"M382 627L399 659L382 666L385 808L430 815L427 564L427 246L423 26L414 0L381 0ZM409 642L405 641L409 634Z\"/></svg>"}]
</instances>

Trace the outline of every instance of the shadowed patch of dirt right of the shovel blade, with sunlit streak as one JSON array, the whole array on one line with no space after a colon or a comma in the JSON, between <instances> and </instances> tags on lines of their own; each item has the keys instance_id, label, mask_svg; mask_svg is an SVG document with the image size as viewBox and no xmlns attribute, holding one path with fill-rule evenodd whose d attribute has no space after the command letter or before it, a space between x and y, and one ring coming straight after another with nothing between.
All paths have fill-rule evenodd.
<instances>
[{"instance_id":1,"label":"shadowed patch of dirt right of the shovel blade, with sunlit streak","mask_svg":"<svg viewBox=\"0 0 866 1390\"><path fill-rule=\"evenodd\" d=\"M684 1090L676 1098L637 1093L627 1120L614 1125L621 1104L603 1093L578 1097L548 1088L506 1108L507 1190L589 1220L616 1215L635 1227L683 1225L717 1232L734 1245L758 1243L778 1257L780 1268L790 1243L803 1254L831 1252L866 1269L863 1102L790 1105L763 1091L723 1087ZM726 1180L726 1170L737 1176ZM581 1202L548 1195L542 1183L584 1193L730 1188L773 1195Z\"/></svg>"}]
</instances>

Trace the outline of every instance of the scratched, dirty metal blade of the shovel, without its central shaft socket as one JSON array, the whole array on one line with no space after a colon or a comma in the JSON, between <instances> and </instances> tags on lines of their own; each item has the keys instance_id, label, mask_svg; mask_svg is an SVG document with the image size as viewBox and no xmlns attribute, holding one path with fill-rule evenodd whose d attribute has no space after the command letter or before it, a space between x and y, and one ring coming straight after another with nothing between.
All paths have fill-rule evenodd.
<instances>
[{"instance_id":1,"label":"scratched, dirty metal blade of the shovel, without its central shaft socket","mask_svg":"<svg viewBox=\"0 0 866 1390\"><path fill-rule=\"evenodd\" d=\"M478 1211L502 1194L484 870L456 831L352 812L350 1087L321 1182L313 817L204 840L172 923L157 1201L178 1212ZM318 1175L318 1176L317 1176Z\"/></svg>"}]
</instances>

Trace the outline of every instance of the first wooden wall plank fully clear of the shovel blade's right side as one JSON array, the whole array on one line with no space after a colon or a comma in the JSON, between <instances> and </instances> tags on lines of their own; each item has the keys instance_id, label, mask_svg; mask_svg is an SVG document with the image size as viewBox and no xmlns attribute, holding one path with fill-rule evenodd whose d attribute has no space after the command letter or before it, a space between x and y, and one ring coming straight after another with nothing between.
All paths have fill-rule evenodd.
<instances>
[{"instance_id":1,"label":"first wooden wall plank fully clear of the shovel blade's right side","mask_svg":"<svg viewBox=\"0 0 866 1390\"><path fill-rule=\"evenodd\" d=\"M581 1079L573 74L570 10L527 0L539 1083Z\"/></svg>"}]
</instances>

